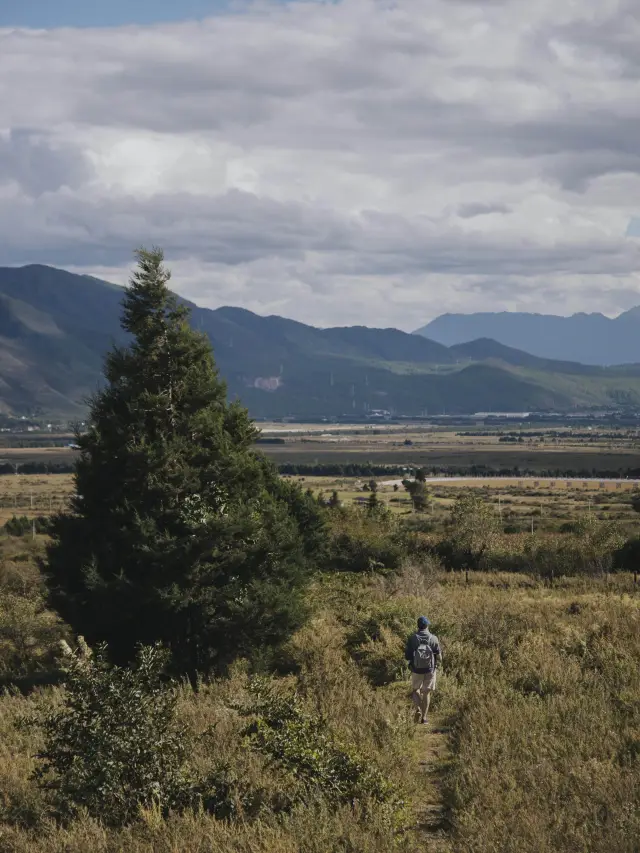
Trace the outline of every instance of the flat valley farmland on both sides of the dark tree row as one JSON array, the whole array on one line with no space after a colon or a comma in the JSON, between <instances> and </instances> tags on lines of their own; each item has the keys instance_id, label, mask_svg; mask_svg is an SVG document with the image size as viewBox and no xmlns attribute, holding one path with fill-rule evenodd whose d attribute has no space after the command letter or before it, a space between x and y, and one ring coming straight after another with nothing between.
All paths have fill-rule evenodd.
<instances>
[{"instance_id":1,"label":"flat valley farmland on both sides of the dark tree row","mask_svg":"<svg viewBox=\"0 0 640 853\"><path fill-rule=\"evenodd\" d=\"M633 479L602 479L600 472L633 472L640 475L640 437L634 429L584 430L561 427L545 430L447 430L425 426L318 427L295 424L263 424L263 436L284 443L262 444L259 449L280 465L305 467L351 463L393 466L394 469L424 466L431 497L428 514L442 521L455 497L473 489L495 506L503 525L514 531L542 528L557 530L585 513L619 522L631 529L637 516L630 505ZM522 438L522 441L520 441ZM508 440L505 440L508 439ZM8 436L5 444L16 443ZM0 522L12 515L48 515L67 505L72 491L70 474L20 474L21 467L39 463L45 469L71 466L75 453L60 447L8 447L0 449L0 462L10 463L17 474L0 477ZM443 477L434 470L483 466L495 471L518 468L521 476ZM531 474L528 470L575 470L581 476L562 478ZM586 474L585 474L586 472ZM366 502L368 476L294 475L316 494L332 492L346 505ZM380 499L394 513L411 513L411 502L401 485L402 476L377 475Z\"/></svg>"}]
</instances>

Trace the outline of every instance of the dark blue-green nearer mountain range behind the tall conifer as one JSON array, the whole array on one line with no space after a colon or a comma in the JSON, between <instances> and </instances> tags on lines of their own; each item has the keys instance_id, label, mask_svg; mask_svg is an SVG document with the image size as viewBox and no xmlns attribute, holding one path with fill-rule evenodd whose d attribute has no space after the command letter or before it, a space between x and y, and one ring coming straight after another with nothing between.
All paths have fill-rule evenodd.
<instances>
[{"instance_id":1,"label":"dark blue-green nearer mountain range behind the tall conifer","mask_svg":"<svg viewBox=\"0 0 640 853\"><path fill-rule=\"evenodd\" d=\"M0 411L84 412L104 352L125 340L122 296L116 285L53 267L0 268ZM640 406L640 365L586 366L489 339L445 346L397 329L318 329L187 304L230 396L255 417Z\"/></svg>"}]
</instances>

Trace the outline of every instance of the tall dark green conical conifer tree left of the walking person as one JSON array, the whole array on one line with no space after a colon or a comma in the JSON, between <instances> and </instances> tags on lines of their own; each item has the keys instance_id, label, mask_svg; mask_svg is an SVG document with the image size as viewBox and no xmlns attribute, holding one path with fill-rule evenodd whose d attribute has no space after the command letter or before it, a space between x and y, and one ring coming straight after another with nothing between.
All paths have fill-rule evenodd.
<instances>
[{"instance_id":1,"label":"tall dark green conical conifer tree left of the walking person","mask_svg":"<svg viewBox=\"0 0 640 853\"><path fill-rule=\"evenodd\" d=\"M137 256L122 315L131 343L106 357L46 570L54 605L90 643L122 663L161 641L195 680L300 623L322 519L252 450L256 428L227 403L162 252Z\"/></svg>"}]
</instances>

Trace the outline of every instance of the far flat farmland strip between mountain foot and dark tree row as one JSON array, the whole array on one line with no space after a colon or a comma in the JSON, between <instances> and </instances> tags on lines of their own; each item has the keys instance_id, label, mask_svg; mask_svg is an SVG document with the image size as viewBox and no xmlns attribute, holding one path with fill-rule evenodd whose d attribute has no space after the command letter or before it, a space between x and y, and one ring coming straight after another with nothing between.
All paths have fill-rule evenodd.
<instances>
[{"instance_id":1,"label":"far flat farmland strip between mountain foot and dark tree row","mask_svg":"<svg viewBox=\"0 0 640 853\"><path fill-rule=\"evenodd\" d=\"M276 424L259 425L260 450L279 465L348 464L419 466L465 469L473 466L494 471L552 472L561 476L640 476L640 431L635 428L568 426L445 428L407 424L357 426ZM64 442L70 441L69 436ZM56 437L0 436L0 465L39 463L69 466L74 451L68 447L38 446L62 443Z\"/></svg>"}]
</instances>

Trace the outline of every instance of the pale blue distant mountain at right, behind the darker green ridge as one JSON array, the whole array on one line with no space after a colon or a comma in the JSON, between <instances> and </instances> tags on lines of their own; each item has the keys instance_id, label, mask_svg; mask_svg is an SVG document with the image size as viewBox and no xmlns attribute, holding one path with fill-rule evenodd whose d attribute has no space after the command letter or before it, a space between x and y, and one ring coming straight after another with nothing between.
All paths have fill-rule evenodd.
<instances>
[{"instance_id":1,"label":"pale blue distant mountain at right, behind the darker green ridge","mask_svg":"<svg viewBox=\"0 0 640 853\"><path fill-rule=\"evenodd\" d=\"M640 307L615 319L603 314L443 314L416 331L454 346L490 338L540 358L614 365L640 361Z\"/></svg>"}]
</instances>

